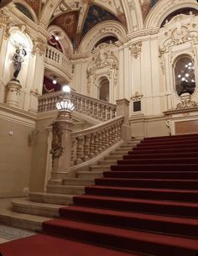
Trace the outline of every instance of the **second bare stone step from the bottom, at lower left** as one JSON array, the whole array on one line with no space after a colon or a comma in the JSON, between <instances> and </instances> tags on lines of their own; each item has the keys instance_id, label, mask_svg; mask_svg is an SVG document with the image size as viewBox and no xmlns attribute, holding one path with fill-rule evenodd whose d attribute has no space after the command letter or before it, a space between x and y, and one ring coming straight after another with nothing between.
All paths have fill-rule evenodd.
<instances>
[{"instance_id":1,"label":"second bare stone step from the bottom, at lower left","mask_svg":"<svg viewBox=\"0 0 198 256\"><path fill-rule=\"evenodd\" d=\"M62 205L29 201L28 198L14 199L11 201L14 212L32 214L43 217L59 217L59 208Z\"/></svg>"}]
</instances>

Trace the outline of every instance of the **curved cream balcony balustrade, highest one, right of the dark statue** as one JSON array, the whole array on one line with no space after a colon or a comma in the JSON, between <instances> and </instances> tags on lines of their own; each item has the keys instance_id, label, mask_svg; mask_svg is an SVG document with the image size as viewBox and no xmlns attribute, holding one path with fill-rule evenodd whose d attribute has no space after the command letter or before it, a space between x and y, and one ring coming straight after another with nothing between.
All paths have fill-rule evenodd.
<instances>
[{"instance_id":1,"label":"curved cream balcony balustrade, highest one, right of the dark statue","mask_svg":"<svg viewBox=\"0 0 198 256\"><path fill-rule=\"evenodd\" d=\"M60 51L48 45L45 52L45 61L49 62L49 64L54 64L59 67L62 71L67 71L71 74L72 65L70 64L70 60Z\"/></svg>"}]
</instances>

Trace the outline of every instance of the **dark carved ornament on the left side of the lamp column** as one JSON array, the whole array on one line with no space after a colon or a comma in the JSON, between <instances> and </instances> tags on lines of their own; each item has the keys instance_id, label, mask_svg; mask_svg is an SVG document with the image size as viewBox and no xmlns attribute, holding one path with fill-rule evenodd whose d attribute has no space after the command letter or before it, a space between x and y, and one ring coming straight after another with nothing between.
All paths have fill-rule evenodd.
<instances>
[{"instance_id":1,"label":"dark carved ornament on the left side of the lamp column","mask_svg":"<svg viewBox=\"0 0 198 256\"><path fill-rule=\"evenodd\" d=\"M57 122L53 123L52 133L53 133L53 138L51 143L50 154L52 154L52 166L54 166L55 158L59 158L63 153L63 146L62 146L63 132L59 123Z\"/></svg>"}]
</instances>

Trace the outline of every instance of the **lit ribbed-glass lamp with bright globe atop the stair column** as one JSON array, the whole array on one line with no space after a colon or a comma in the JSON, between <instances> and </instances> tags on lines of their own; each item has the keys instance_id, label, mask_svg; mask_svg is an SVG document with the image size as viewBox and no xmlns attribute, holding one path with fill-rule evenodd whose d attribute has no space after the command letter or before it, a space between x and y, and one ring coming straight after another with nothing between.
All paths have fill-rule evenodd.
<instances>
[{"instance_id":1,"label":"lit ribbed-glass lamp with bright globe atop the stair column","mask_svg":"<svg viewBox=\"0 0 198 256\"><path fill-rule=\"evenodd\" d=\"M59 116L71 118L71 112L75 109L75 103L70 95L70 86L63 86L63 92L59 102L56 103L56 108L59 111Z\"/></svg>"}]
</instances>

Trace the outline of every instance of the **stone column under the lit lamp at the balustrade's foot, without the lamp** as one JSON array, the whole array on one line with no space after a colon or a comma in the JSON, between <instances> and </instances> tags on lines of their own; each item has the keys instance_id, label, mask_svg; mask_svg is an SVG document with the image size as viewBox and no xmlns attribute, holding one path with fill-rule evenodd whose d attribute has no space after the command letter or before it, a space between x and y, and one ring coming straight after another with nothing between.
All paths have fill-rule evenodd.
<instances>
[{"instance_id":1,"label":"stone column under the lit lamp at the balustrade's foot, without the lamp","mask_svg":"<svg viewBox=\"0 0 198 256\"><path fill-rule=\"evenodd\" d=\"M74 123L65 116L58 116L53 123L52 173L49 184L61 184L62 178L69 175L72 127Z\"/></svg>"}]
</instances>

